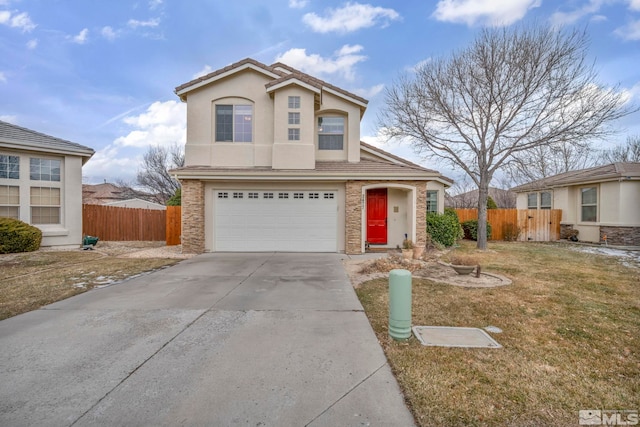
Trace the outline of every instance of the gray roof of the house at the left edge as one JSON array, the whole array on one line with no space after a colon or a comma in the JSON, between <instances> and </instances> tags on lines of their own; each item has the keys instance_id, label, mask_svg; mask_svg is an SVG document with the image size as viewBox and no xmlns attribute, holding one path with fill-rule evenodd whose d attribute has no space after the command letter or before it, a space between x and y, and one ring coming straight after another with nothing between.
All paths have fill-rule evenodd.
<instances>
[{"instance_id":1,"label":"gray roof of the house at the left edge","mask_svg":"<svg viewBox=\"0 0 640 427\"><path fill-rule=\"evenodd\" d=\"M84 145L45 135L44 133L3 121L0 121L0 146L34 151L76 154L87 158L95 153L93 149L85 147Z\"/></svg>"}]
</instances>

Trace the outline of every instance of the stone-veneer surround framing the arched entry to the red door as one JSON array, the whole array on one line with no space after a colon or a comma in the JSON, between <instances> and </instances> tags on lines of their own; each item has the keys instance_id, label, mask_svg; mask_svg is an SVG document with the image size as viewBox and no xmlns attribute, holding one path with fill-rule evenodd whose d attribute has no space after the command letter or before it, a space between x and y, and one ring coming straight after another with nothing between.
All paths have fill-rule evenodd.
<instances>
[{"instance_id":1,"label":"stone-veneer surround framing the arched entry to the red door","mask_svg":"<svg viewBox=\"0 0 640 427\"><path fill-rule=\"evenodd\" d=\"M427 244L427 183L425 181L347 181L345 201L345 253L362 253L362 187L373 184L404 184L416 188L416 241L417 247ZM183 196L184 197L184 196Z\"/></svg>"}]
</instances>

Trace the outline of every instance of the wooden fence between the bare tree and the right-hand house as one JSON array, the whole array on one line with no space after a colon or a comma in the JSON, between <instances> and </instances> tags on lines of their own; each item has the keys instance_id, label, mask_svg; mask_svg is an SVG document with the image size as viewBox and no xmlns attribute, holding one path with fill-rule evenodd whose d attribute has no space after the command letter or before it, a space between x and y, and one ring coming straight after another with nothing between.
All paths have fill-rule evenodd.
<instances>
[{"instance_id":1,"label":"wooden fence between the bare tree and the right-hand house","mask_svg":"<svg viewBox=\"0 0 640 427\"><path fill-rule=\"evenodd\" d=\"M456 209L460 222L478 219L477 209ZM491 240L505 240L505 234L520 230L518 241L549 242L560 239L560 209L487 209ZM517 228L515 228L517 227Z\"/></svg>"}]
</instances>

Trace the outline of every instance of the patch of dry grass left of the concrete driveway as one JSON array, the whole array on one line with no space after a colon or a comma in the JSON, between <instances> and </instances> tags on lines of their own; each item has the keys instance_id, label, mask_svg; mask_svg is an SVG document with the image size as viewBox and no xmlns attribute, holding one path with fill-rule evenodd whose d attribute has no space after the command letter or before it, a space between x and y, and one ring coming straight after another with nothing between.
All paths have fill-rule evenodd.
<instances>
[{"instance_id":1,"label":"patch of dry grass left of the concrete driveway","mask_svg":"<svg viewBox=\"0 0 640 427\"><path fill-rule=\"evenodd\" d=\"M147 242L98 243L95 251L46 251L0 255L0 320L118 282L179 260L120 258ZM157 244L156 244L157 246Z\"/></svg>"}]
</instances>

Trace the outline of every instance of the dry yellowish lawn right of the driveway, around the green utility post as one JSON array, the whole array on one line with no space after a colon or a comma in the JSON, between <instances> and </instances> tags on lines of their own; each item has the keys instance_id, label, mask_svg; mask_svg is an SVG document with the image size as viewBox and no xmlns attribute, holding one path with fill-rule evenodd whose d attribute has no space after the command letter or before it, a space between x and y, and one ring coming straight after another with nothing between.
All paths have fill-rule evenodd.
<instances>
[{"instance_id":1,"label":"dry yellowish lawn right of the driveway, around the green utility post","mask_svg":"<svg viewBox=\"0 0 640 427\"><path fill-rule=\"evenodd\" d=\"M417 423L577 425L580 409L640 409L640 270L551 244L489 249L465 242L459 251L513 285L414 280L413 324L497 326L502 349L397 343L388 336L387 280L357 289Z\"/></svg>"}]
</instances>

